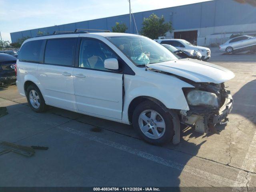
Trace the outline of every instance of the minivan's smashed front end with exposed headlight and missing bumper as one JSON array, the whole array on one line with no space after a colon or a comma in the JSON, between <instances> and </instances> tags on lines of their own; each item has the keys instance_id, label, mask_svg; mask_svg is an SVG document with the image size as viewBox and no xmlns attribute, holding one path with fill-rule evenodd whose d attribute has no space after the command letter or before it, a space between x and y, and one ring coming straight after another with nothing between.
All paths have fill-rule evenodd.
<instances>
[{"instance_id":1,"label":"minivan's smashed front end with exposed headlight and missing bumper","mask_svg":"<svg viewBox=\"0 0 256 192\"><path fill-rule=\"evenodd\" d=\"M181 123L195 126L195 130L217 133L217 124L226 124L233 107L230 91L224 83L192 83L195 88L184 88L188 111L180 110Z\"/></svg>"}]
</instances>

